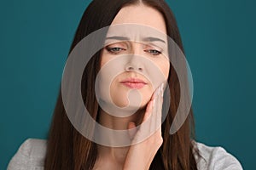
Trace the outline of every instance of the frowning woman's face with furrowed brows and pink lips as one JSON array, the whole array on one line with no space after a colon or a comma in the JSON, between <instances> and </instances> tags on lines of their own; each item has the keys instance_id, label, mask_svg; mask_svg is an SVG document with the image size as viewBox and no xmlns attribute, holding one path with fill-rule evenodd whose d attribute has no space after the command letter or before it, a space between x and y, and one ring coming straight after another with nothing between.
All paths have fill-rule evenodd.
<instances>
[{"instance_id":1,"label":"frowning woman's face with furrowed brows and pink lips","mask_svg":"<svg viewBox=\"0 0 256 170\"><path fill-rule=\"evenodd\" d=\"M119 13L115 16L111 26L128 23L150 26L163 34L166 34L166 23L162 14L160 14L158 10L143 4L121 8ZM116 35L113 35L113 32L117 31L112 31L112 36L115 37ZM122 32L124 33L124 31ZM130 32L128 30L127 34L129 33ZM124 36L125 35L122 35L122 37ZM137 35L135 37L137 37ZM155 36L148 35L148 37ZM127 94L130 90L136 89L142 97L140 107L143 107L147 105L155 88L160 85L160 81L166 81L170 69L170 63L168 58L161 53L162 49L159 48L161 45L154 45L154 42L155 44L164 43L155 39L146 42L134 42L131 41L131 39L129 40L124 38L120 42L116 42L115 40L115 42L111 43L111 41L109 41L108 45L103 48L101 68L109 62L117 62L114 65L122 70L116 77L109 77L113 66L102 72L102 77L112 79L110 88L106 87L106 90L110 89L110 96L115 105L119 107L129 105ZM165 45L166 44L163 44L162 46ZM122 59L118 60L118 57ZM158 84L153 84L154 81L151 80L151 76L153 76L153 72L157 71L153 71L154 68L152 65L150 66L148 62L153 63L153 67L157 68L161 72L161 76L163 77L162 79L165 80L159 79L157 82ZM153 72L150 73L150 71ZM148 77L145 75L148 75Z\"/></svg>"}]
</instances>

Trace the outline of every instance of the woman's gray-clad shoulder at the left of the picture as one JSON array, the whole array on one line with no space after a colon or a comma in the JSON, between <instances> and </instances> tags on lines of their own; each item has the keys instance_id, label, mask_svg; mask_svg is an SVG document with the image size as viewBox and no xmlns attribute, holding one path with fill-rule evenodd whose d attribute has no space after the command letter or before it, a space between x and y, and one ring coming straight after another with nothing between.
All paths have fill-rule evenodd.
<instances>
[{"instance_id":1,"label":"woman's gray-clad shoulder at the left of the picture","mask_svg":"<svg viewBox=\"0 0 256 170\"><path fill-rule=\"evenodd\" d=\"M8 170L40 170L44 169L44 157L46 153L46 140L44 139L26 139L20 145L19 150L9 161Z\"/></svg>"}]
</instances>

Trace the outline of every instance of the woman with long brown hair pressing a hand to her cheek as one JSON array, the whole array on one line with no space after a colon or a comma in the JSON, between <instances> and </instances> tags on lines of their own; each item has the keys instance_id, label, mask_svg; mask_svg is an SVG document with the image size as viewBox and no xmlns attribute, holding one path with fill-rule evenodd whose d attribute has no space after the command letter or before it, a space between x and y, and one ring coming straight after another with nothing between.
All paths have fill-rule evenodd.
<instances>
[{"instance_id":1,"label":"woman with long brown hair pressing a hand to her cheek","mask_svg":"<svg viewBox=\"0 0 256 170\"><path fill-rule=\"evenodd\" d=\"M72 54L73 49L79 42L90 33L105 26L119 26L127 23L149 26L160 31L171 37L183 51L176 21L164 1L94 0L85 10L79 23L70 54ZM106 37L108 36L109 31L106 32ZM107 41L107 38L105 40ZM170 54L169 46L168 53ZM139 105L135 104L138 107L135 109L136 113L131 116L118 117L109 115L102 109L104 102L102 102L102 105L97 102L95 94L97 88L96 78L101 69L113 62L113 59L123 55L126 57L124 59L127 59L128 54L143 56L144 58L133 58L133 56L131 59L122 60L124 62L120 67L124 71L118 74L113 79L113 83L109 85L109 94L112 99L112 103L110 103L119 106L119 108L125 108L132 101L132 97L131 99L129 98L130 100L125 98L131 89L137 89L135 91L141 94L141 102ZM148 68L143 65L143 61L146 62L146 60L140 59L149 60L154 63L155 67L160 69L163 77L161 81L151 83L150 77L143 75L143 71ZM184 65L184 63L180 63L180 65ZM102 71L102 79L98 84L100 86L99 91L104 91L102 89L104 87L101 87L101 81L104 82L104 78L108 77L108 71L108 69L105 69L105 72ZM186 71L183 70L183 72ZM186 78L186 74L183 74L183 78ZM143 82L138 82L138 80ZM179 100L182 97L180 95L179 81L174 66L164 56L163 51L154 45L124 39L117 42L109 42L106 47L102 48L90 59L84 69L81 82L82 97L90 116L104 127L114 130L134 129L134 131L129 131L132 144L120 144L119 146L122 145L122 147L114 147L111 144L99 144L92 139L84 138L84 135L70 121L63 101L65 97L60 92L55 105L53 122L49 130L49 139L47 142L38 139L26 140L12 161L10 161L9 169L19 169L20 167L24 169L76 170L242 169L239 161L223 148L208 147L195 142L192 110L189 110L189 116L183 122L182 127L177 128L177 132L170 134ZM186 86L188 87L188 84ZM164 87L166 87L166 90L164 90ZM168 101L163 97L168 94L168 90L171 94L170 108ZM99 95L104 100L104 93L102 93L100 92ZM105 101L105 103L108 103L108 101ZM160 125L162 111L167 111L167 115ZM117 114L122 115L122 113ZM147 131L147 127L139 129L135 127L143 125L148 120L148 128L153 128L150 132L154 133L150 133L147 138L133 143L139 138L140 134ZM152 122L153 120L156 120L156 122ZM84 124L86 128L90 128L89 123ZM146 131L143 132L143 129L146 129Z\"/></svg>"}]
</instances>

